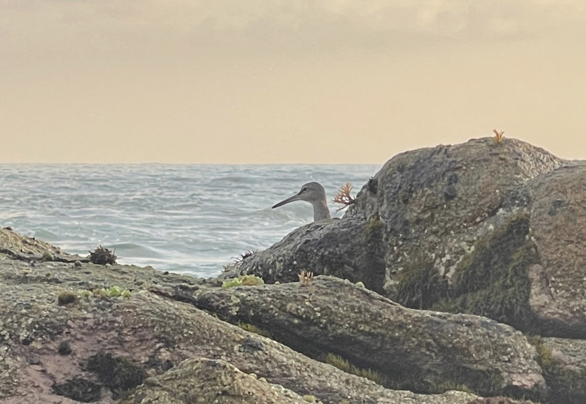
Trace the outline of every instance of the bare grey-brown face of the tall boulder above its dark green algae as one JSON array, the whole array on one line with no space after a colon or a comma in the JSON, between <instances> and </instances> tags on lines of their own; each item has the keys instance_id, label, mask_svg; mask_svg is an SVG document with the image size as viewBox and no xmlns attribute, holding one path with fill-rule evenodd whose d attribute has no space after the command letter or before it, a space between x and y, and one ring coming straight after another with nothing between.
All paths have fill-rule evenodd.
<instances>
[{"instance_id":1,"label":"bare grey-brown face of the tall boulder above its dark green algae","mask_svg":"<svg viewBox=\"0 0 586 404\"><path fill-rule=\"evenodd\" d=\"M363 281L373 290L384 285L392 297L398 274L421 250L440 275L451 277L475 239L527 206L520 185L564 163L516 139L399 154L362 187L342 220L302 226L229 268L226 276L254 273L272 283L295 281L294 275L307 270Z\"/></svg>"}]
</instances>

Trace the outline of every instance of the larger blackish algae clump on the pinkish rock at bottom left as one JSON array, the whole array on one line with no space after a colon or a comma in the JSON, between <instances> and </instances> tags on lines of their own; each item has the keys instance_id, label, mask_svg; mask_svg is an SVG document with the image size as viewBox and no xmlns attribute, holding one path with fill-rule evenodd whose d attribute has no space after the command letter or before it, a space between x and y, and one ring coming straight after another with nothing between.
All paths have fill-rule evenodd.
<instances>
[{"instance_id":1,"label":"larger blackish algae clump on the pinkish rock at bottom left","mask_svg":"<svg viewBox=\"0 0 586 404\"><path fill-rule=\"evenodd\" d=\"M88 358L86 369L96 373L98 380L110 388L114 399L130 395L147 376L141 367L127 358L114 357L110 353L103 352Z\"/></svg>"}]
</instances>

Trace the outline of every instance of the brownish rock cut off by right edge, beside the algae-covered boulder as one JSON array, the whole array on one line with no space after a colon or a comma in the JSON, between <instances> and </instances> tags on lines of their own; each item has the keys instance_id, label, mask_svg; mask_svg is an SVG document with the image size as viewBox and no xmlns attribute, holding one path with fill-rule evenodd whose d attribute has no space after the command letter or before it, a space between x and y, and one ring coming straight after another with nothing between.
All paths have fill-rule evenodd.
<instances>
[{"instance_id":1,"label":"brownish rock cut off by right edge, beside the algae-covered boulder","mask_svg":"<svg viewBox=\"0 0 586 404\"><path fill-rule=\"evenodd\" d=\"M529 237L540 262L531 267L529 304L540 334L586 338L586 164L534 178L527 188Z\"/></svg>"}]
</instances>

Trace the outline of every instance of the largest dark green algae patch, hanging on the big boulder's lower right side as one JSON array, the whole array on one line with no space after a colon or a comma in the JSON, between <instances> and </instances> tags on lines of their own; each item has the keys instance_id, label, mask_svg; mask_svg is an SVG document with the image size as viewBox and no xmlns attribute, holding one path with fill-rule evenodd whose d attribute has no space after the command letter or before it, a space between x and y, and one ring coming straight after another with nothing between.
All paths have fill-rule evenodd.
<instances>
[{"instance_id":1,"label":"largest dark green algae patch, hanging on the big boulder's lower right side","mask_svg":"<svg viewBox=\"0 0 586 404\"><path fill-rule=\"evenodd\" d=\"M529 306L529 265L539 263L527 239L529 215L519 213L500 229L476 242L472 253L458 263L449 298L431 310L489 317L523 331L534 327Z\"/></svg>"}]
</instances>

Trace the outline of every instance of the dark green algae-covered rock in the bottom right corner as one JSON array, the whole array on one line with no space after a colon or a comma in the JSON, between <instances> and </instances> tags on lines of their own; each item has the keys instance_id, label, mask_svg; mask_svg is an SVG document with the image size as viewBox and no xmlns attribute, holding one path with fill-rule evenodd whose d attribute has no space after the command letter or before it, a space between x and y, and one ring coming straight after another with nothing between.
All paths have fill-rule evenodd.
<instances>
[{"instance_id":1,"label":"dark green algae-covered rock in the bottom right corner","mask_svg":"<svg viewBox=\"0 0 586 404\"><path fill-rule=\"evenodd\" d=\"M537 363L543 369L547 384L547 402L551 404L583 404L586 402L586 370L568 368L556 364L550 348L546 347L540 336L529 336L539 356Z\"/></svg>"}]
</instances>

